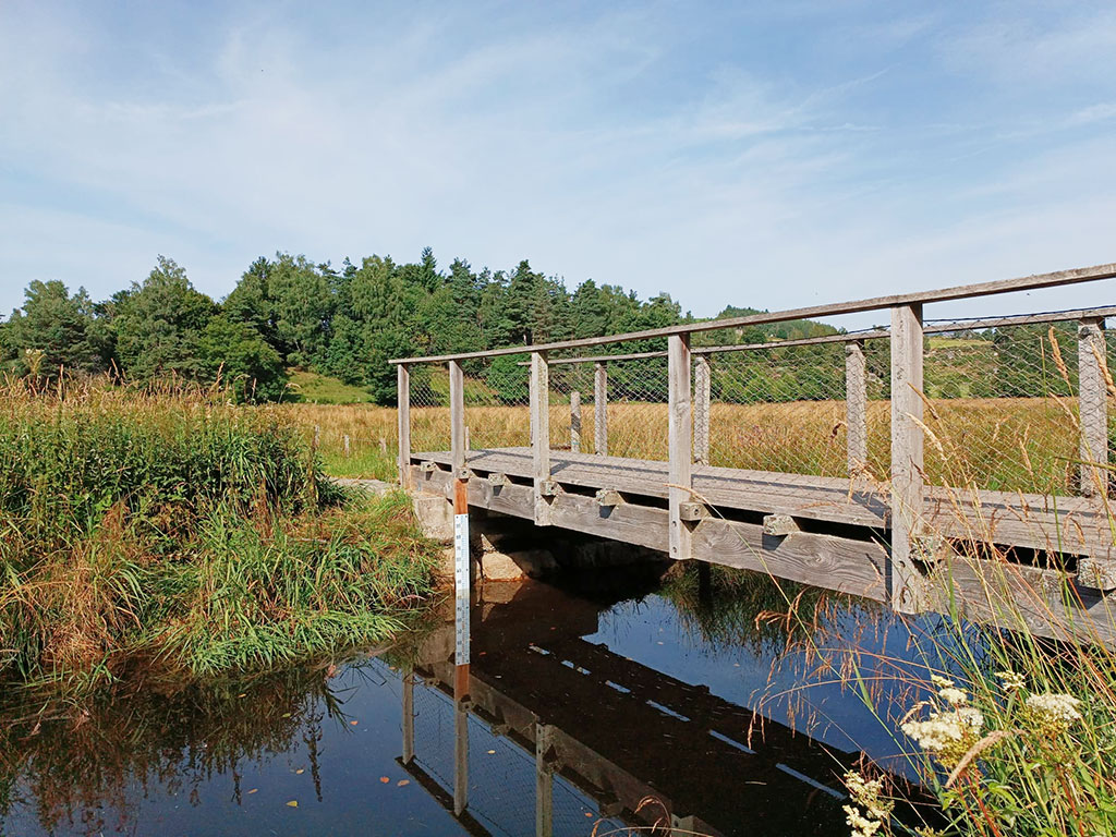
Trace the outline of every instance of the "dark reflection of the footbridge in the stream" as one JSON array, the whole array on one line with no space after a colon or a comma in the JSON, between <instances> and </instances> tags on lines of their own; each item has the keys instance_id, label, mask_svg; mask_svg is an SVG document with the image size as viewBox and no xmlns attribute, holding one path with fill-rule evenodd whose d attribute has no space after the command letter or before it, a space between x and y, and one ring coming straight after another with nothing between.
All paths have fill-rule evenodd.
<instances>
[{"instance_id":1,"label":"dark reflection of the footbridge in the stream","mask_svg":"<svg viewBox=\"0 0 1116 837\"><path fill-rule=\"evenodd\" d=\"M857 754L587 642L588 603L562 597L550 618L548 588L522 593L474 626L468 696L452 625L404 677L402 762L471 831L585 835L598 816L677 834L847 830L839 777Z\"/></svg>"}]
</instances>

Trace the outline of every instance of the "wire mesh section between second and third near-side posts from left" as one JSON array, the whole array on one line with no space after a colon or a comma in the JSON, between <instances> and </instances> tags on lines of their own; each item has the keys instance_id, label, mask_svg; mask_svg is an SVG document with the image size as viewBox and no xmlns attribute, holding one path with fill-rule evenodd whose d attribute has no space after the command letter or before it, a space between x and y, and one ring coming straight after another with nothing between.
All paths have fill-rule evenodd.
<instances>
[{"instance_id":1,"label":"wire mesh section between second and third near-side posts from left","mask_svg":"<svg viewBox=\"0 0 1116 837\"><path fill-rule=\"evenodd\" d=\"M463 364L469 450L527 448L531 443L528 355L501 355L487 365Z\"/></svg>"}]
</instances>

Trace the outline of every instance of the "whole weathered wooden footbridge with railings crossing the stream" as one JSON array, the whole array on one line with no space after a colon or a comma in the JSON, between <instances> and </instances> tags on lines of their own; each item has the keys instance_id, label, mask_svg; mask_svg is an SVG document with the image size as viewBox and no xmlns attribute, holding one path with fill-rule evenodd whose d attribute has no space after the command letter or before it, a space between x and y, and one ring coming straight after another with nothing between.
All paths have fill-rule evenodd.
<instances>
[{"instance_id":1,"label":"whole weathered wooden footbridge with railings crossing the stream","mask_svg":"<svg viewBox=\"0 0 1116 837\"><path fill-rule=\"evenodd\" d=\"M1116 308L962 321L930 320L924 314L927 306L939 302L1114 277L1116 264L1104 264L629 334L393 360L398 374L400 479L412 490L450 500L456 494L460 506L652 547L675 560L764 571L888 602L903 613L958 606L971 618L1007 627L1110 643L1116 641L1109 607L1116 595L1116 551L1109 507L1109 413L1116 417L1116 411L1109 404L1116 388L1108 374L1105 319L1116 315ZM1103 287L1094 289L1099 292ZM781 343L701 344L710 333L742 334L752 326L865 311L886 312L889 328ZM1067 324L1072 328L1066 330ZM1059 345L1054 326L1072 335L1077 345L1064 345L1065 340ZM991 435L1009 425L1014 427L1012 439L1032 440L1048 433L1039 448L1064 446L1068 452L1062 456L1064 470L1071 478L1057 485L994 485L979 478L951 483L931 473L927 446L949 464L956 455L951 451L963 452L969 444L969 431L962 424L958 425L961 437L952 440L954 446L943 446L933 430L940 413L972 413L974 407L963 398L952 403L931 397L924 379L927 335L968 335L968 340L945 344L945 352L954 352L954 345L971 347L975 343L971 338L982 335L988 346L995 347L997 338L988 335L1016 329L1030 329L1027 334L1037 340L1049 340L1051 345L1043 344L1036 363L1057 371L1055 377L1066 389L1061 395L1036 391L984 400L981 408L994 410L999 416L989 420L995 424ZM646 346L654 340L665 340L665 349L622 354L633 341ZM789 347L833 349L833 344L845 349L841 416L833 431L834 439L844 441L844 473L831 469L827 473L820 466L802 472L739 468L711 459L718 435L737 433L731 426L734 414L722 415L723 405L715 403L728 396L718 395L718 389L727 389L723 382L711 384L714 356L740 357ZM617 346L614 354L602 354L606 350L602 347ZM883 374L875 377L866 362L873 352L885 364ZM995 353L1003 355L1002 349ZM529 419L523 416L523 422L529 421L529 437L511 432L508 444L474 449L470 436L496 436L477 422L469 426L464 367L501 356L526 359ZM616 455L616 440L609 437L616 411L633 408L632 398L625 404L609 402L609 369L633 363L661 369L665 377L662 397L641 402L648 411L648 432L658 426L654 416L666 414L660 431L666 436L661 456ZM578 364L591 365L594 371L591 395L586 393L593 401L593 452L583 450L581 392L560 394L558 421L551 405L552 376L566 365ZM448 404L413 403L412 378L426 365L448 367ZM778 407L776 401L786 403L787 398L764 403ZM805 416L834 410L833 400L816 396L797 401L791 396L791 402ZM565 424L567 404L568 427L555 433L554 425ZM1036 404L1060 416L1058 422L1038 426ZM448 444L412 450L413 429L435 412L446 419ZM757 427L764 421L778 424L787 413L773 408L767 420L762 414L758 420L756 413L749 415L754 426L750 425L748 434L738 434L742 449L749 439L760 437ZM873 424L873 415L881 417L879 427ZM874 445L879 440L873 433L886 437ZM805 437L802 444L807 444ZM1028 445L1035 449L1030 442L1012 443L997 455L1028 460ZM884 461L883 468L873 468L873 446L884 452L876 455Z\"/></svg>"}]
</instances>

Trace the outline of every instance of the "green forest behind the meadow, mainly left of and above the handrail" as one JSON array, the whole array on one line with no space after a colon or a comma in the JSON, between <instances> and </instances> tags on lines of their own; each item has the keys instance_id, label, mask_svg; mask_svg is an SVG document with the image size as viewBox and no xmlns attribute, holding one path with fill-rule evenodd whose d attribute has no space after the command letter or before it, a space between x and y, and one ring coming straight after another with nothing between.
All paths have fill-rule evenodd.
<instances>
[{"instance_id":1,"label":"green forest behind the meadow, mainly left of and above the handrail","mask_svg":"<svg viewBox=\"0 0 1116 837\"><path fill-rule=\"evenodd\" d=\"M722 316L741 310L730 308ZM0 324L0 363L45 378L60 371L135 382L220 377L243 401L281 398L291 372L306 369L391 404L395 373L387 360L393 357L590 337L686 319L666 294L641 300L634 291L593 280L570 291L526 259L508 271L475 271L463 259L442 270L427 248L416 262L371 256L359 263L345 259L337 269L277 253L253 261L228 297L213 300L193 287L183 267L160 256L146 278L105 300L93 300L83 288L70 292L57 279L31 281L22 307ZM752 337L799 336L801 325L770 326ZM469 372L480 376L489 369L474 364ZM500 364L491 372L496 381L501 375L518 377L507 362L502 372Z\"/></svg>"}]
</instances>

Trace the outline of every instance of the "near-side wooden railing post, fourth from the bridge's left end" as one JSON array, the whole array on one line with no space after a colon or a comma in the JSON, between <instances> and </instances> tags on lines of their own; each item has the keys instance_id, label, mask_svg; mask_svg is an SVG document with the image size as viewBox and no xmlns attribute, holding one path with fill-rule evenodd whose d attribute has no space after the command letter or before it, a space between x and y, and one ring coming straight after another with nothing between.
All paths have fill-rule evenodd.
<instances>
[{"instance_id":1,"label":"near-side wooden railing post, fourth from the bridge's left end","mask_svg":"<svg viewBox=\"0 0 1116 837\"><path fill-rule=\"evenodd\" d=\"M690 335L671 335L667 339L667 448L670 450L671 558L691 557L691 532L682 520L682 503L692 501L689 491L693 471L693 414L690 405Z\"/></svg>"}]
</instances>

